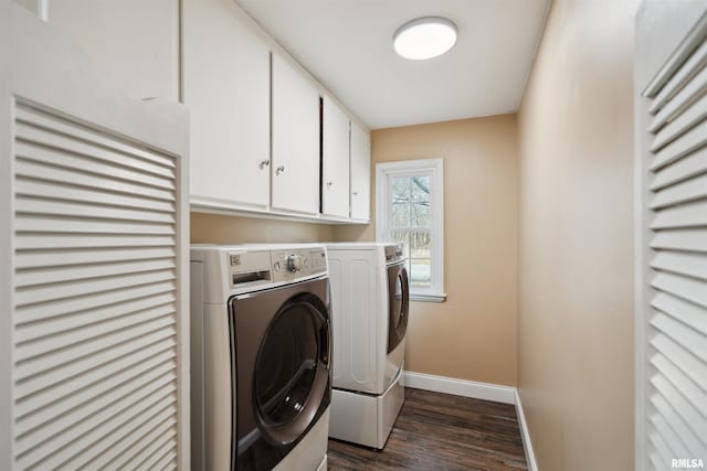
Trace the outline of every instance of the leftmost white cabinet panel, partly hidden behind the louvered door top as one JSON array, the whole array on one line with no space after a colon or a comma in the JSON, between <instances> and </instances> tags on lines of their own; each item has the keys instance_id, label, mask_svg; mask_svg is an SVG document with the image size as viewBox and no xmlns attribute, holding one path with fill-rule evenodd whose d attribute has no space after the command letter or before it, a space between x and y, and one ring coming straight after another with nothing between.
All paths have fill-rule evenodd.
<instances>
[{"instance_id":1,"label":"leftmost white cabinet panel, partly hidden behind the louvered door top","mask_svg":"<svg viewBox=\"0 0 707 471\"><path fill-rule=\"evenodd\" d=\"M45 4L49 23L117 88L137 98L179 99L179 0Z\"/></svg>"}]
</instances>

